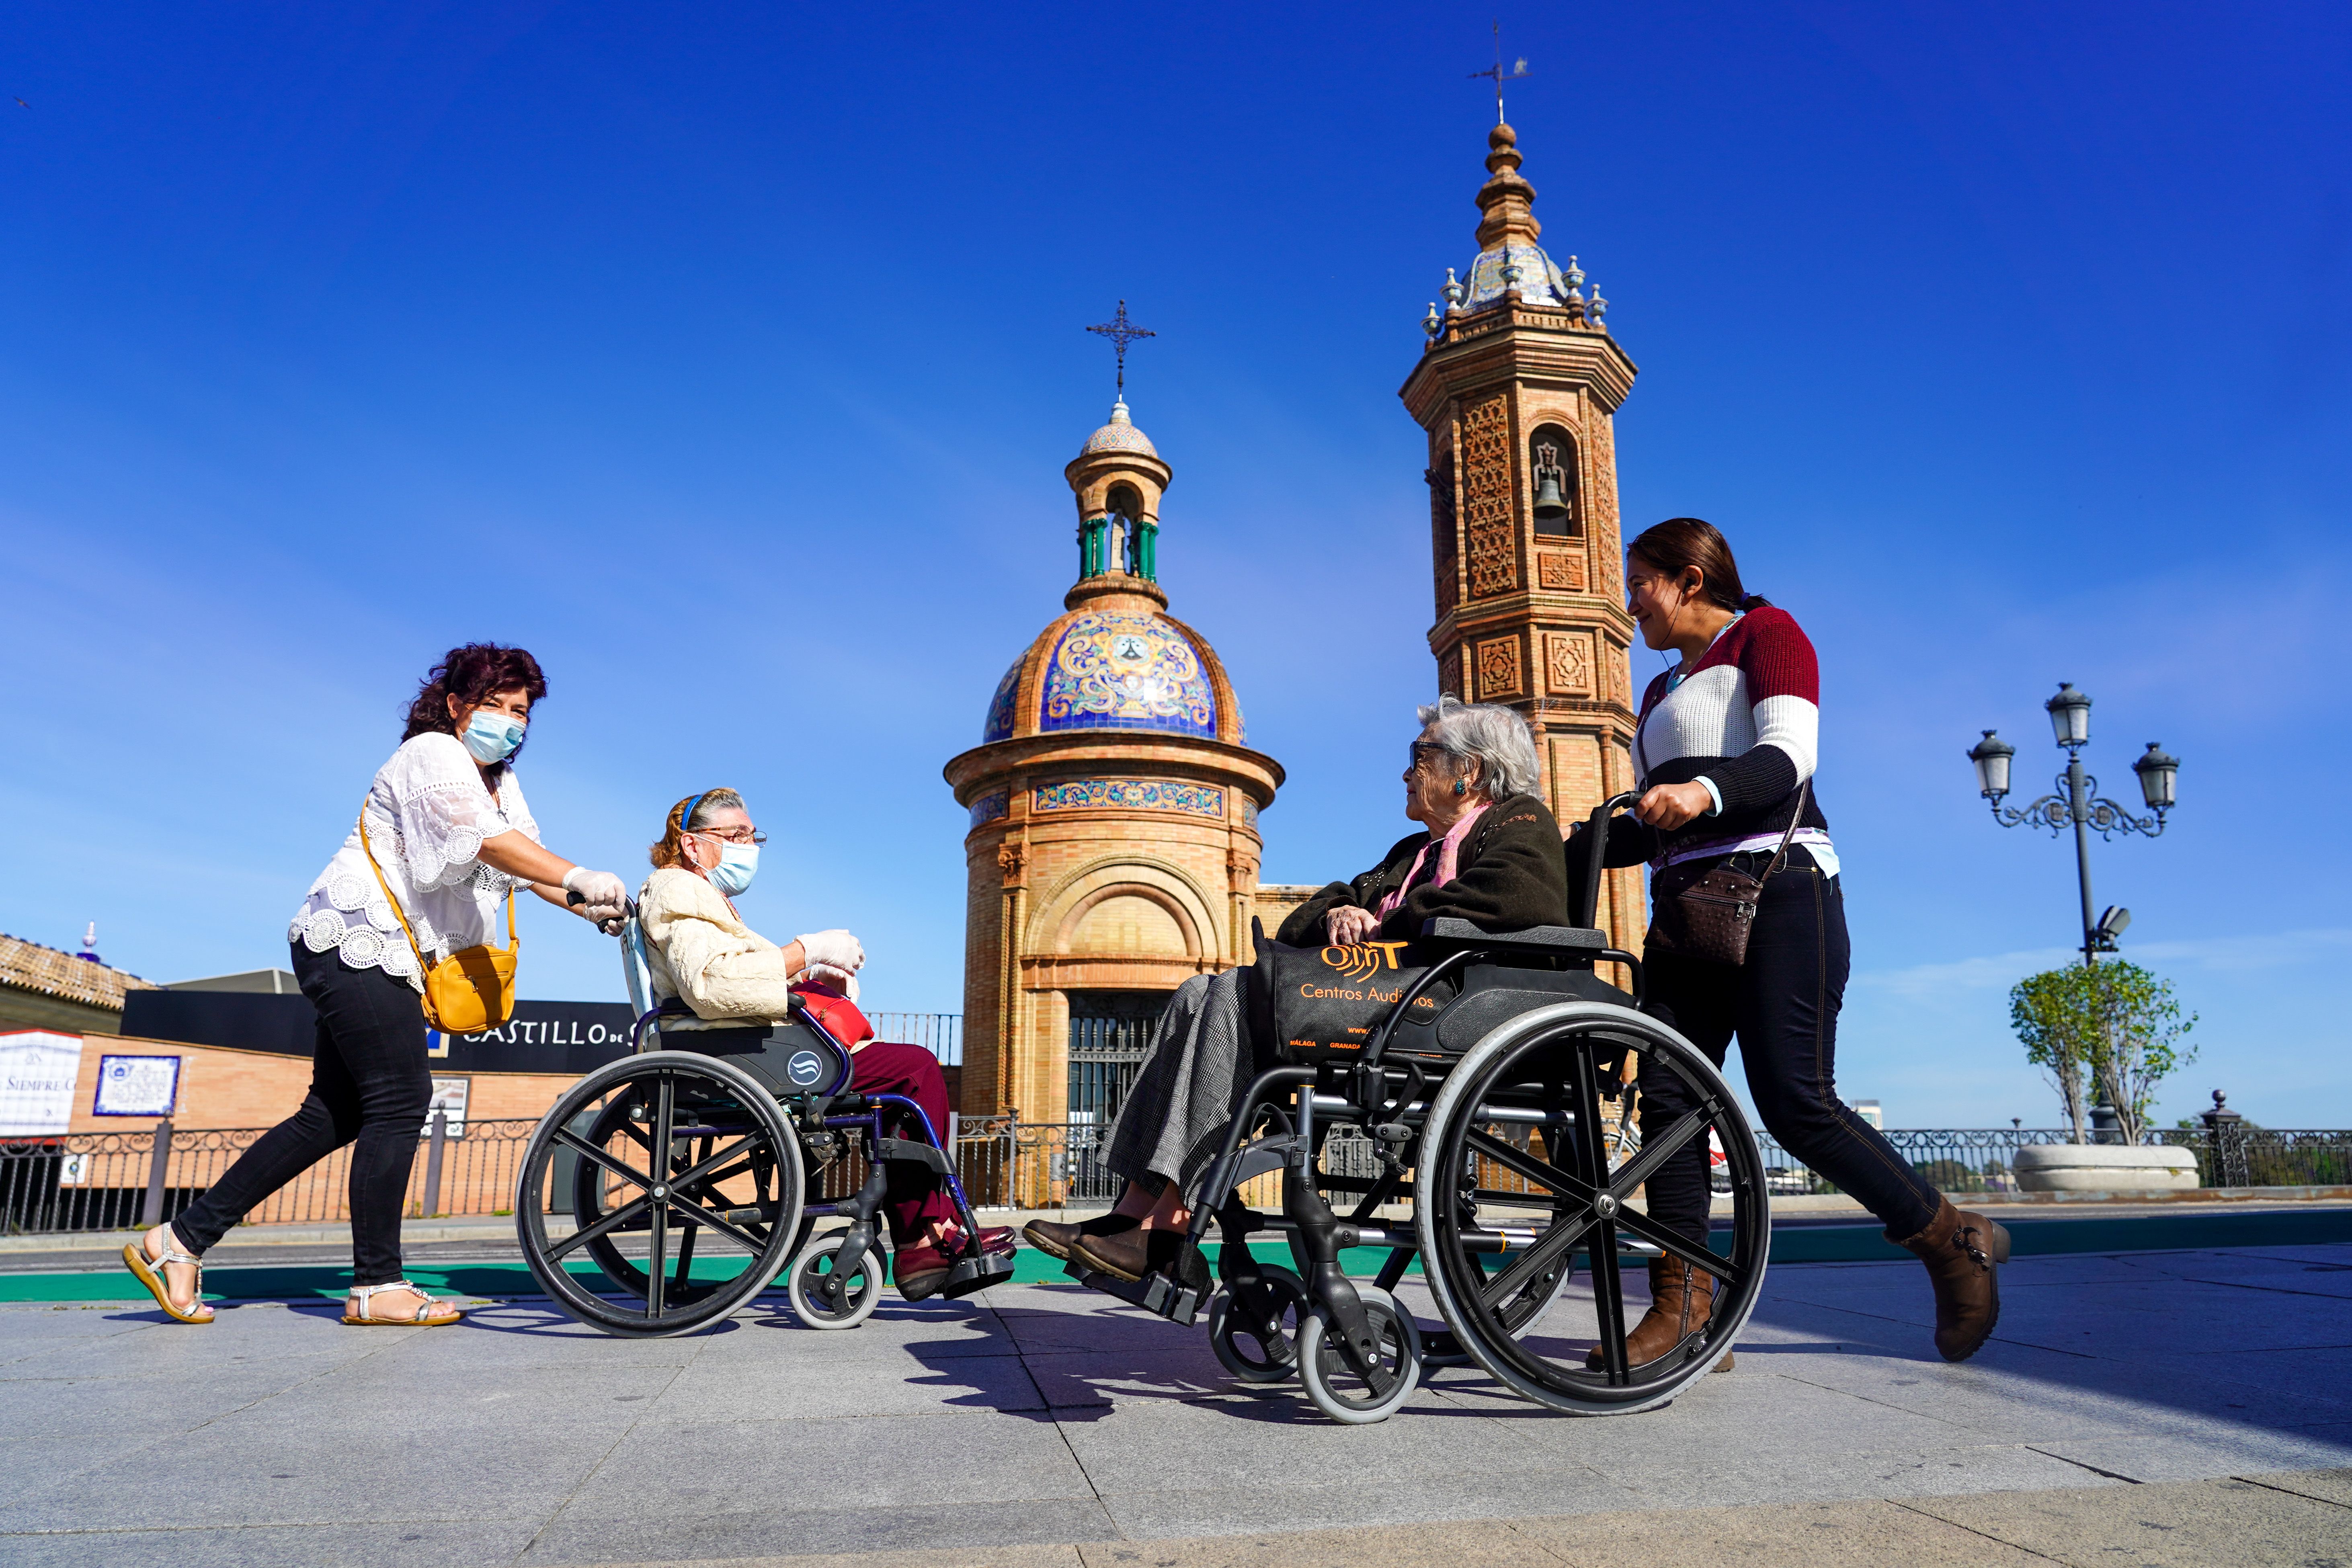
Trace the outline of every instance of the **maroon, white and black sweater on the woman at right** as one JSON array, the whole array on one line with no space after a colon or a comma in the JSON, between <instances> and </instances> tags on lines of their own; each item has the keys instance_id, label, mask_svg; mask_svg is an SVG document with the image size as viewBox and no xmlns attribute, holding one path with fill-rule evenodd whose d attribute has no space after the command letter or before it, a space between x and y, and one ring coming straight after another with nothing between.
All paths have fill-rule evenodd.
<instances>
[{"instance_id":1,"label":"maroon, white and black sweater on the woman at right","mask_svg":"<svg viewBox=\"0 0 2352 1568\"><path fill-rule=\"evenodd\" d=\"M1609 830L1609 860L1670 865L1778 846L1797 809L1797 785L1813 776L1818 748L1820 661L1813 642L1785 609L1762 604L1717 632L1686 675L1670 670L1642 693L1635 783L1644 790L1698 783L1715 809L1675 832L1621 818ZM1825 875L1837 875L1818 790L1806 795L1797 844Z\"/></svg>"}]
</instances>

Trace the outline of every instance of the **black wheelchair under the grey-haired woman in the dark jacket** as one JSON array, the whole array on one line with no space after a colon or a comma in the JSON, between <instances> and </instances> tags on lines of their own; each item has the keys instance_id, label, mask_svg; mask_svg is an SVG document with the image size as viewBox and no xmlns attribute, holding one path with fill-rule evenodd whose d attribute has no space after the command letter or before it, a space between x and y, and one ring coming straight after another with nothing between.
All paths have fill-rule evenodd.
<instances>
[{"instance_id":1,"label":"black wheelchair under the grey-haired woman in the dark jacket","mask_svg":"<svg viewBox=\"0 0 2352 1568\"><path fill-rule=\"evenodd\" d=\"M1395 1413L1435 1366L1475 1363L1569 1415L1651 1410L1715 1371L1764 1286L1771 1211L1731 1086L1644 1011L1642 964L1592 929L1609 816L1635 799L1592 813L1576 926L1486 933L1425 922L1406 957L1428 969L1359 1048L1277 1051L1225 1128L1174 1272L1141 1284L1080 1260L1065 1272L1178 1324L1207 1307L1211 1349L1235 1380L1298 1378L1317 1410L1348 1425ZM1602 961L1630 971L1630 994L1595 973ZM1446 980L1456 994L1416 1016L1416 999ZM1628 1058L1679 1077L1696 1105L1670 1126L1644 1126L1637 1147L1602 1117L1632 1077ZM1668 1157L1710 1140L1722 1150L1710 1187L1719 1204L1729 1185L1731 1213L1729 1225L1715 1215L1715 1246L1693 1246L1635 1194ZM1334 1159L1343 1145L1357 1157ZM1282 1211L1244 1204L1242 1185L1275 1171ZM1324 1194L1352 1199L1350 1211ZM1282 1237L1296 1267L1263 1262L1249 1246L1256 1232ZM1371 1284L1341 1267L1348 1248L1385 1248ZM1658 1255L1712 1274L1715 1309L1658 1361L1628 1366L1625 1272ZM1442 1331L1423 1333L1395 1298L1416 1258ZM1578 1269L1590 1307L1569 1291Z\"/></svg>"}]
</instances>

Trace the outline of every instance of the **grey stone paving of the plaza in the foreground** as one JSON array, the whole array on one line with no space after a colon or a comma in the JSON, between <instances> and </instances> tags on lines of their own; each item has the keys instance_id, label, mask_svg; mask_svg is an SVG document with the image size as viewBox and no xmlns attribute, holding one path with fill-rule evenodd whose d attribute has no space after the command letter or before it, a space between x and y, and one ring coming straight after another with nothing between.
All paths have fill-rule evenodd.
<instances>
[{"instance_id":1,"label":"grey stone paving of the plaza in the foreground","mask_svg":"<svg viewBox=\"0 0 2352 1568\"><path fill-rule=\"evenodd\" d=\"M1075 1286L781 1295L612 1340L546 1302L0 1307L0 1561L2340 1563L2352 1246L2020 1258L1973 1361L1917 1265L1776 1265L1738 1368L1571 1420L1442 1371L1336 1427ZM1428 1314L1418 1286L1409 1298Z\"/></svg>"}]
</instances>

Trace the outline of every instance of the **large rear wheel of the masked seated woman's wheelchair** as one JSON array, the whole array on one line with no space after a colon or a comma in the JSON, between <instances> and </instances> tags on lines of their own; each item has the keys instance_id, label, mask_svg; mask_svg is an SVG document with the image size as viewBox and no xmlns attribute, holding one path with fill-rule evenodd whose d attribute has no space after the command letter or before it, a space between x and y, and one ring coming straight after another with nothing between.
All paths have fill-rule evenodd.
<instances>
[{"instance_id":1,"label":"large rear wheel of the masked seated woman's wheelchair","mask_svg":"<svg viewBox=\"0 0 2352 1568\"><path fill-rule=\"evenodd\" d=\"M579 1157L576 1229L550 1239L557 1150ZM800 1138L776 1095L720 1058L649 1051L597 1067L546 1114L522 1154L515 1229L532 1274L583 1324L689 1333L776 1279L802 1232L802 1185ZM621 1298L574 1274L581 1260Z\"/></svg>"}]
</instances>

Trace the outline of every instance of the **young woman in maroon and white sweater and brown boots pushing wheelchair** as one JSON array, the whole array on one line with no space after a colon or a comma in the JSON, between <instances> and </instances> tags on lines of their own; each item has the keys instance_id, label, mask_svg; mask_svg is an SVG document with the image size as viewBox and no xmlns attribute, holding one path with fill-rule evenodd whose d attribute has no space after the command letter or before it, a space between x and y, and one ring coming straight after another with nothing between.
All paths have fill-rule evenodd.
<instances>
[{"instance_id":1,"label":"young woman in maroon and white sweater and brown boots pushing wheelchair","mask_svg":"<svg viewBox=\"0 0 2352 1568\"><path fill-rule=\"evenodd\" d=\"M1642 799L1609 830L1606 865L1651 867L1644 945L1649 1011L1717 1067L1736 1034L1766 1131L1926 1262L1936 1349L1966 1361L1999 1316L1994 1267L2009 1232L1959 1211L1837 1095L1837 1011L1846 992L1846 907L1837 849L1813 785L1820 672L1797 621L1740 585L1731 545L1672 517L1625 548L1625 607L1651 649L1682 663L1649 684L1632 743ZM1569 865L1581 867L1576 837ZM1762 879L1740 961L1708 952L1684 891L1710 872ZM1700 917L1703 919L1703 917ZM1686 1084L1642 1074L1644 1131L1689 1110ZM1705 1147L1649 1178L1649 1213L1708 1239ZM1651 1307L1628 1338L1639 1366L1705 1326L1715 1279L1679 1258L1651 1262Z\"/></svg>"}]
</instances>

